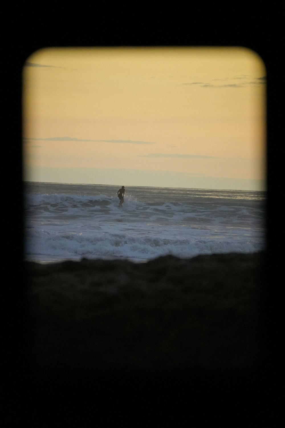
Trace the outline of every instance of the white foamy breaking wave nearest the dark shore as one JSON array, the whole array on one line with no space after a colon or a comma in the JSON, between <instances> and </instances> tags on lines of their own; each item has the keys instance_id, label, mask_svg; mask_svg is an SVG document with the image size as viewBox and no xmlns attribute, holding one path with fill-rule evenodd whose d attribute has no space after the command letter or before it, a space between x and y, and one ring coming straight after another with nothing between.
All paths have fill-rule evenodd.
<instances>
[{"instance_id":1,"label":"white foamy breaking wave nearest the dark shore","mask_svg":"<svg viewBox=\"0 0 285 428\"><path fill-rule=\"evenodd\" d=\"M219 238L200 237L200 231L185 238L175 236L131 233L107 233L104 231L90 233L47 232L44 229L29 231L25 253L28 258L33 254L59 256L67 259L122 257L133 260L149 260L158 256L171 254L181 258L190 258L197 254L241 252L250 253L262 249L262 243L228 236Z\"/></svg>"}]
</instances>

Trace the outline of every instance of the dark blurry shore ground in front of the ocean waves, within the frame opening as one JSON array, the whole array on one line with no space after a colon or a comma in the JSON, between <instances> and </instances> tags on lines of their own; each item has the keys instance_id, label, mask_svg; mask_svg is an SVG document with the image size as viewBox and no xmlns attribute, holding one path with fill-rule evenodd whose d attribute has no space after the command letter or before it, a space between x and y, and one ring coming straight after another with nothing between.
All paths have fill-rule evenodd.
<instances>
[{"instance_id":1,"label":"dark blurry shore ground in front of the ocean waves, within the frame opening","mask_svg":"<svg viewBox=\"0 0 285 428\"><path fill-rule=\"evenodd\" d=\"M264 253L25 262L35 382L241 379L265 364Z\"/></svg>"}]
</instances>

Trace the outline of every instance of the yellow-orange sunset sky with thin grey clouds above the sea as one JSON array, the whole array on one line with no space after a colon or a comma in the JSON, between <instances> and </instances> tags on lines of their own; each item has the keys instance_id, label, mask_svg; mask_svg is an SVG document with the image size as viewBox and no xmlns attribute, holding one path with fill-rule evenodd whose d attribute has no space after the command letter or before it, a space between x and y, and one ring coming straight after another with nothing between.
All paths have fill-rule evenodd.
<instances>
[{"instance_id":1,"label":"yellow-orange sunset sky with thin grey clouds above the sea","mask_svg":"<svg viewBox=\"0 0 285 428\"><path fill-rule=\"evenodd\" d=\"M266 190L248 48L44 48L23 67L23 179Z\"/></svg>"}]
</instances>

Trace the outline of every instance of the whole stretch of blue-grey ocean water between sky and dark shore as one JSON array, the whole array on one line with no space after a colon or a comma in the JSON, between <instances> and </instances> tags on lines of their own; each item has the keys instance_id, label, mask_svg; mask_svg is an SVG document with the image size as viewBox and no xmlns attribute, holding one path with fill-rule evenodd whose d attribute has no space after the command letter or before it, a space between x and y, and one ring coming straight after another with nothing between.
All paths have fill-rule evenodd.
<instances>
[{"instance_id":1,"label":"whole stretch of blue-grey ocean water between sky and dark shore","mask_svg":"<svg viewBox=\"0 0 285 428\"><path fill-rule=\"evenodd\" d=\"M24 183L24 258L129 259L265 249L266 192Z\"/></svg>"}]
</instances>

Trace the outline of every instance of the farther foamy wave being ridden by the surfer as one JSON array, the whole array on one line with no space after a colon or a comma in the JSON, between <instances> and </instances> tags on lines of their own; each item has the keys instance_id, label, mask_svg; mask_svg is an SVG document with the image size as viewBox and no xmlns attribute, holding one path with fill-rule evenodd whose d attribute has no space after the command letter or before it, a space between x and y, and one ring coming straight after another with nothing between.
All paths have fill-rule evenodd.
<instances>
[{"instance_id":1,"label":"farther foamy wave being ridden by the surfer","mask_svg":"<svg viewBox=\"0 0 285 428\"><path fill-rule=\"evenodd\" d=\"M25 198L25 218L47 222L62 220L62 223L77 220L78 224L89 219L97 224L106 222L152 222L159 224L185 225L201 228L214 225L262 227L263 211L241 206L193 205L182 202L141 202L126 196L119 206L115 196L100 194L94 197L70 194L31 193ZM80 220L81 219L81 220ZM88 227L91 227L92 224Z\"/></svg>"}]
</instances>

